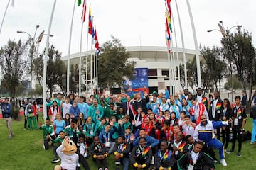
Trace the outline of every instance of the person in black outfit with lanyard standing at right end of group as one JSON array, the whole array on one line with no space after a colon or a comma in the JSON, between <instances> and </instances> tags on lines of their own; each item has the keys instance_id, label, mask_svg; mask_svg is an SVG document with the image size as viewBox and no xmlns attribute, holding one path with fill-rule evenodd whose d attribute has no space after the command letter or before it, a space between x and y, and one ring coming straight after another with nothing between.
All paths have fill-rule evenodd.
<instances>
[{"instance_id":1,"label":"person in black outfit with lanyard standing at right end of group","mask_svg":"<svg viewBox=\"0 0 256 170\"><path fill-rule=\"evenodd\" d=\"M241 104L241 97L235 96L235 107L232 112L232 149L227 153L230 154L234 152L235 149L235 140L238 138L238 157L241 157L242 149L242 132L245 131L245 121L246 121L246 112L245 107Z\"/></svg>"}]
</instances>

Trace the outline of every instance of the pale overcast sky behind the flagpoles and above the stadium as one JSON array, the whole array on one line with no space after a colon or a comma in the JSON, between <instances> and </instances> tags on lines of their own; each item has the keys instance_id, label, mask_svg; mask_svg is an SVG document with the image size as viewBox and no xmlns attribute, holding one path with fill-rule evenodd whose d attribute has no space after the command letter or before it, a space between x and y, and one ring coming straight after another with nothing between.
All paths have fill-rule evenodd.
<instances>
[{"instance_id":1,"label":"pale overcast sky behind the flagpoles and above the stadium","mask_svg":"<svg viewBox=\"0 0 256 170\"><path fill-rule=\"evenodd\" d=\"M9 0L0 1L0 21ZM76 0L57 0L50 38L50 44L68 55L70 37L70 23L73 5ZM82 0L83 1L83 0ZM256 45L256 1L253 0L190 0L193 21L196 27L198 45L220 46L221 34L218 31L208 33L207 30L218 29L218 22L223 21L225 28L242 25L242 30L252 33L252 43ZM164 0L87 0L86 21L82 31L82 51L90 50L90 35L87 45L87 22L89 3L93 16L93 25L97 28L97 37L100 44L111 40L110 35L121 40L124 46L166 46L165 44L165 6ZM191 21L188 15L186 0L177 0L181 16L184 45L188 49L195 49ZM16 33L22 30L34 35L36 25L40 25L36 36L45 30L48 32L48 23L53 6L53 0L15 0L14 7L9 5L4 25L0 33L0 46L11 40L26 40L26 33ZM171 1L178 47L181 47L181 34L178 25L178 16L175 0ZM70 53L80 51L82 21L82 5L75 5L73 31ZM173 26L174 27L174 26ZM232 29L235 31L235 28ZM39 52L46 47L46 36L40 43ZM175 44L174 44L175 47Z\"/></svg>"}]
</instances>

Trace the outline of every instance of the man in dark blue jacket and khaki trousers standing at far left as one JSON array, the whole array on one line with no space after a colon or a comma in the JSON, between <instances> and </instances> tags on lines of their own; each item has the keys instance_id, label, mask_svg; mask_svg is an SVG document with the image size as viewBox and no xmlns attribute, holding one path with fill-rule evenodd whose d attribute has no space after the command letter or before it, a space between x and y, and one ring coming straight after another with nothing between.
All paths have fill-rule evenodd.
<instances>
[{"instance_id":1,"label":"man in dark blue jacket and khaki trousers standing at far left","mask_svg":"<svg viewBox=\"0 0 256 170\"><path fill-rule=\"evenodd\" d=\"M1 110L3 114L3 118L6 123L6 127L9 132L9 140L11 140L12 137L14 137L14 133L11 131L11 104L9 103L9 98L4 98L4 102L1 103Z\"/></svg>"}]
</instances>

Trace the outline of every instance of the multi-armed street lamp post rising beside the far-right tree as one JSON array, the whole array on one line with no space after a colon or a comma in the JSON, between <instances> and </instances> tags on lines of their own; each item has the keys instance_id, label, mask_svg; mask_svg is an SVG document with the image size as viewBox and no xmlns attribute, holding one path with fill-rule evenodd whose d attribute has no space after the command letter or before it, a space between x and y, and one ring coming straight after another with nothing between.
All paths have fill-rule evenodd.
<instances>
[{"instance_id":1,"label":"multi-armed street lamp post rising beside the far-right tree","mask_svg":"<svg viewBox=\"0 0 256 170\"><path fill-rule=\"evenodd\" d=\"M222 35L223 35L223 38L225 40L227 40L228 42L230 42L229 40L229 34L230 34L230 30L232 28L237 28L237 30L240 30L240 28L242 27L241 25L236 25L236 26L232 26L231 28L227 28L227 30L225 30L224 26L223 26L223 21L219 21L218 23L218 27L220 28L220 30L218 29L212 29L212 30L207 30L208 33L212 32L212 31L219 31ZM232 48L230 47L230 50L232 50ZM231 57L228 59L229 62L230 62L230 81L231 81L231 102L233 102L233 72L232 72L232 62L231 62Z\"/></svg>"}]
</instances>

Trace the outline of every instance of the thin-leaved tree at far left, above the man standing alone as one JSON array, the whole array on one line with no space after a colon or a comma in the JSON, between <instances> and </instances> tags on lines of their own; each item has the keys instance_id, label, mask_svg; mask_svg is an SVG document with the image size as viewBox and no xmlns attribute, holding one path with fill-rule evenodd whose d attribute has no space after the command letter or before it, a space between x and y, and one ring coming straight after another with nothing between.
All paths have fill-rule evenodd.
<instances>
[{"instance_id":1,"label":"thin-leaved tree at far left, above the man standing alone","mask_svg":"<svg viewBox=\"0 0 256 170\"><path fill-rule=\"evenodd\" d=\"M18 119L18 106L15 106L15 98L18 96L21 80L26 77L27 60L25 54L28 50L28 42L21 40L9 40L7 45L0 49L0 65L2 70L1 86L6 89L13 107L13 118Z\"/></svg>"}]
</instances>

